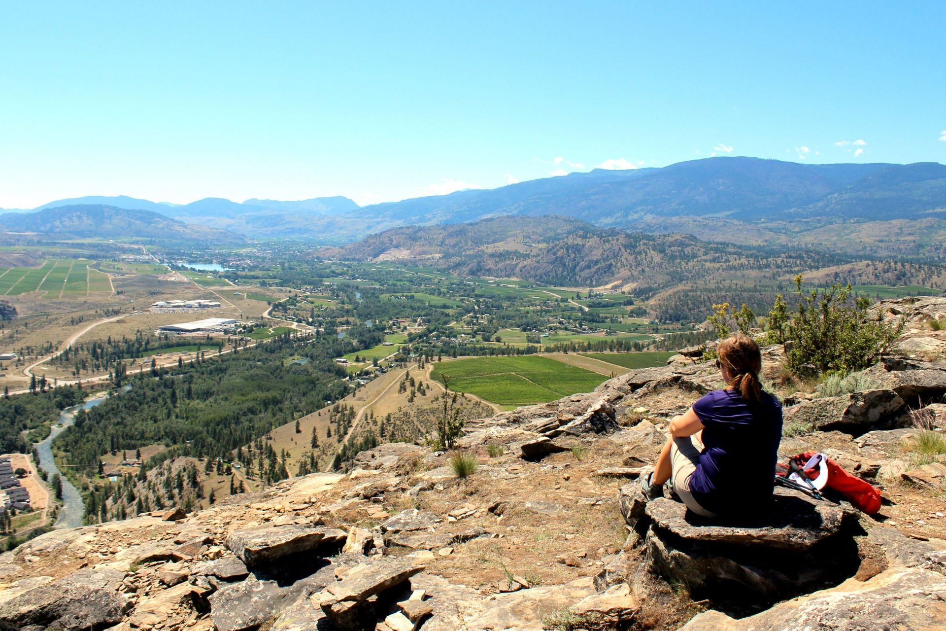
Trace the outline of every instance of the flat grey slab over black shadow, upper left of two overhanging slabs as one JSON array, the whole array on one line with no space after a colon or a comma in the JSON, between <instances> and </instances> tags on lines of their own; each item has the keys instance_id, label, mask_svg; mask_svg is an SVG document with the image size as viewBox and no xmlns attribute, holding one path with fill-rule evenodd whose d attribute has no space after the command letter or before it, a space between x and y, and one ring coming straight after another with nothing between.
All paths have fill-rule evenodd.
<instances>
[{"instance_id":1,"label":"flat grey slab over black shadow, upper left of two overhanging slabs","mask_svg":"<svg viewBox=\"0 0 946 631\"><path fill-rule=\"evenodd\" d=\"M341 547L346 536L344 531L337 528L288 524L236 531L227 537L227 548L247 568L254 568L289 554L312 552L324 546Z\"/></svg>"}]
</instances>

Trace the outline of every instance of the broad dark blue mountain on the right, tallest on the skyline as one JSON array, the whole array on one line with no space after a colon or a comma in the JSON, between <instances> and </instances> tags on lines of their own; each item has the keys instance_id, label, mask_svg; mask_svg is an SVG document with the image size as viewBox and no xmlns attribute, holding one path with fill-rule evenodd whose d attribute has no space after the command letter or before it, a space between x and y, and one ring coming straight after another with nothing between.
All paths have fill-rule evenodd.
<instances>
[{"instance_id":1,"label":"broad dark blue mountain on the right, tallest on the skyline","mask_svg":"<svg viewBox=\"0 0 946 631\"><path fill-rule=\"evenodd\" d=\"M859 201L877 201L863 212ZM634 227L642 220L725 217L780 221L799 217L917 219L946 208L946 166L799 165L759 158L707 158L669 167L571 173L466 190L440 197L366 206L362 217L451 222L497 215L565 215L596 225Z\"/></svg>"}]
</instances>

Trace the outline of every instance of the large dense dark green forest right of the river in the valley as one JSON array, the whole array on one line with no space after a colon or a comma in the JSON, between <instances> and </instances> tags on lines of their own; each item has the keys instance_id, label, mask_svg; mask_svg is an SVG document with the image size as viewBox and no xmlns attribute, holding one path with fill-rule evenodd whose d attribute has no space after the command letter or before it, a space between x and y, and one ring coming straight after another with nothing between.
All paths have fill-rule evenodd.
<instances>
[{"instance_id":1,"label":"large dense dark green forest right of the river in the valley","mask_svg":"<svg viewBox=\"0 0 946 631\"><path fill-rule=\"evenodd\" d=\"M86 473L96 472L105 452L153 444L165 444L171 455L229 459L237 447L347 394L344 369L333 358L359 350L360 343L355 336L287 336L135 376L127 391L79 412L54 447ZM299 356L310 360L286 361Z\"/></svg>"}]
</instances>

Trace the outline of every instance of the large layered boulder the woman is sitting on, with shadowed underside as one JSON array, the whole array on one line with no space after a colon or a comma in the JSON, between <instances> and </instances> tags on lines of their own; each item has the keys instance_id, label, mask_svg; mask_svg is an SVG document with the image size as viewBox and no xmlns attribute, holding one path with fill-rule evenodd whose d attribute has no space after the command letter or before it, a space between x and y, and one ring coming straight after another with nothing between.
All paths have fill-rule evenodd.
<instances>
[{"instance_id":1,"label":"large layered boulder the woman is sitting on, with shadowed underside","mask_svg":"<svg viewBox=\"0 0 946 631\"><path fill-rule=\"evenodd\" d=\"M644 502L633 486L622 489L622 513L643 537L651 570L725 606L774 603L837 584L859 563L844 513L828 501L777 488L764 514L706 519L678 501Z\"/></svg>"}]
</instances>

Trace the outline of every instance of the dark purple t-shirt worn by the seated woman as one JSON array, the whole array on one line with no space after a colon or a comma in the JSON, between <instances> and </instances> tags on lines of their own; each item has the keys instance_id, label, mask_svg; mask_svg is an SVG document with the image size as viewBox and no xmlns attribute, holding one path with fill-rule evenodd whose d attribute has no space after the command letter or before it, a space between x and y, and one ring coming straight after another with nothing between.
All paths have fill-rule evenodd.
<instances>
[{"instance_id":1,"label":"dark purple t-shirt worn by the seated woman","mask_svg":"<svg viewBox=\"0 0 946 631\"><path fill-rule=\"evenodd\" d=\"M738 390L715 390L693 412L705 427L705 448L690 478L693 499L717 515L766 505L779 458L780 403L769 394L749 403Z\"/></svg>"}]
</instances>

